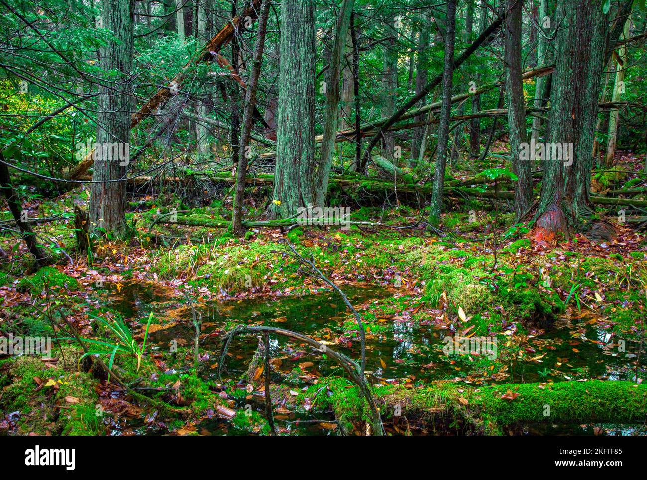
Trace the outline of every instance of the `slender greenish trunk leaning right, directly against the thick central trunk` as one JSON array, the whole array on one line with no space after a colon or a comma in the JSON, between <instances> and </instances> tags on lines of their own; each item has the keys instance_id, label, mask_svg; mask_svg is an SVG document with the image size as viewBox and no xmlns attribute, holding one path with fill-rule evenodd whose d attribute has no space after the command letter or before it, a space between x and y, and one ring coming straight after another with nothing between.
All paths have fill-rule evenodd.
<instances>
[{"instance_id":1,"label":"slender greenish trunk leaning right, directly against the thick central trunk","mask_svg":"<svg viewBox=\"0 0 647 480\"><path fill-rule=\"evenodd\" d=\"M337 133L339 114L339 82L342 73L342 61L346 50L346 38L351 24L355 0L344 0L339 11L339 18L334 33L333 51L331 52L330 67L326 72L325 111L323 113L323 136L321 157L315 172L315 206L323 206L328 191L330 169L333 166L334 139Z\"/></svg>"}]
</instances>

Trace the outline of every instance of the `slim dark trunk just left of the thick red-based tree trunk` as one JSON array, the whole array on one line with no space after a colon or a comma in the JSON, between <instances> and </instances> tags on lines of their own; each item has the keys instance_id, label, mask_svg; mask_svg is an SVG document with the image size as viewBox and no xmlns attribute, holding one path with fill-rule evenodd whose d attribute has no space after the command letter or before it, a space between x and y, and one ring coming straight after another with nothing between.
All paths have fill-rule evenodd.
<instances>
[{"instance_id":1,"label":"slim dark trunk just left of the thick red-based tree trunk","mask_svg":"<svg viewBox=\"0 0 647 480\"><path fill-rule=\"evenodd\" d=\"M527 142L523 83L521 82L521 7L522 0L506 0L505 8L505 92L508 102L508 132L512 171L518 177L514 188L516 220L527 212L532 199L532 162L521 158L520 144Z\"/></svg>"}]
</instances>

